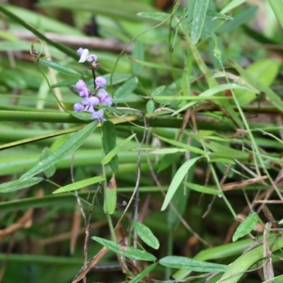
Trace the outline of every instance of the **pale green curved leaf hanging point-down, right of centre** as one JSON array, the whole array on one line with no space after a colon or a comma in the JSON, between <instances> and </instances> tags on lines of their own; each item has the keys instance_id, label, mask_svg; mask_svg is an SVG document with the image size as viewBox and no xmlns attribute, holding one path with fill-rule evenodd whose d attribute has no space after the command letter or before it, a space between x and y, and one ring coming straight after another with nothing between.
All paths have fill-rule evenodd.
<instances>
[{"instance_id":1,"label":"pale green curved leaf hanging point-down, right of centre","mask_svg":"<svg viewBox=\"0 0 283 283\"><path fill-rule=\"evenodd\" d=\"M199 160L202 156L192 158L188 161L186 161L175 173L175 176L168 188L168 192L166 194L165 200L163 202L163 205L161 207L161 210L166 209L168 207L169 202L171 202L171 199L173 195L175 194L175 191L178 189L180 183L182 182L183 178L187 174L187 172L190 170L190 168Z\"/></svg>"}]
</instances>

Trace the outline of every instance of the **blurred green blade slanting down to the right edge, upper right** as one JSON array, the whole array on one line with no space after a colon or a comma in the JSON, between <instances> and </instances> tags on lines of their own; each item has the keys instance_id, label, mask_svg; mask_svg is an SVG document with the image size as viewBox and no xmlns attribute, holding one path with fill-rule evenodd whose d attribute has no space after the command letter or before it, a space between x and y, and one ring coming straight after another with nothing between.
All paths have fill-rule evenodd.
<instances>
[{"instance_id":1,"label":"blurred green blade slanting down to the right edge, upper right","mask_svg":"<svg viewBox=\"0 0 283 283\"><path fill-rule=\"evenodd\" d=\"M231 64L241 74L243 79L250 84L250 86L253 86L259 91L265 93L270 103L275 105L277 109L283 112L283 102L274 91L272 91L268 86L265 86L264 83L262 83L259 79L256 79L252 74L248 73L248 71L244 70L240 65L236 64L235 62L231 62Z\"/></svg>"}]
</instances>

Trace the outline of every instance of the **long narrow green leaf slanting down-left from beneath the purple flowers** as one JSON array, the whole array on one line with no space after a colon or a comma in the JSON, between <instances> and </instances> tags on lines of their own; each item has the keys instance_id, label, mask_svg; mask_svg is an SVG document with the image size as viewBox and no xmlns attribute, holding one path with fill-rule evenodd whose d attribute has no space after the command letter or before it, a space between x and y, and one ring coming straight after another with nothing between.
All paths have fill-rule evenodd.
<instances>
[{"instance_id":1,"label":"long narrow green leaf slanting down-left from beneath the purple flowers","mask_svg":"<svg viewBox=\"0 0 283 283\"><path fill-rule=\"evenodd\" d=\"M86 127L83 127L83 129L80 129L78 132L73 134L62 146L50 154L50 156L45 158L45 160L40 161L40 163L38 163L35 167L23 174L20 180L29 179L34 175L45 171L68 154L71 154L72 151L75 151L79 146L81 146L81 144L83 144L83 142L91 135L93 130L96 129L96 125L98 125L98 121L93 121L86 125Z\"/></svg>"}]
</instances>

